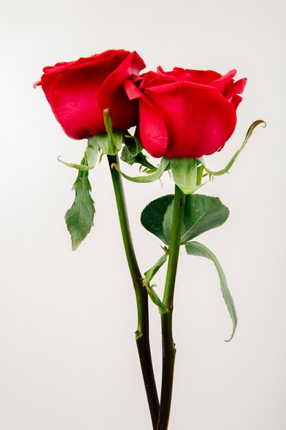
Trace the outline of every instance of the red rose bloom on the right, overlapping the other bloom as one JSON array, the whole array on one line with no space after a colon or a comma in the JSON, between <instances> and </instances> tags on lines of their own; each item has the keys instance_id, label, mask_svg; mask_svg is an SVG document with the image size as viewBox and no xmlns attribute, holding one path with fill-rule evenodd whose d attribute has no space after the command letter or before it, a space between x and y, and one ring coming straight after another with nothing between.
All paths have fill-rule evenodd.
<instances>
[{"instance_id":1,"label":"red rose bloom on the right, overlapping the other bloom","mask_svg":"<svg viewBox=\"0 0 286 430\"><path fill-rule=\"evenodd\" d=\"M153 157L197 158L222 149L235 131L236 109L246 78L236 70L226 75L211 70L175 67L142 75L139 88L126 82L130 100L139 98L139 133Z\"/></svg>"}]
</instances>

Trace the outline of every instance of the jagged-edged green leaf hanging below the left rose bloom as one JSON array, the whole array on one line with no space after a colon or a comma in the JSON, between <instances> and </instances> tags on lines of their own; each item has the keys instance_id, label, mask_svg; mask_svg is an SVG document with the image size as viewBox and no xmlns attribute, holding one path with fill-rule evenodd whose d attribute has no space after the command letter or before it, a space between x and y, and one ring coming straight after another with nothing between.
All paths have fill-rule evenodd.
<instances>
[{"instance_id":1,"label":"jagged-edged green leaf hanging below the left rose bloom","mask_svg":"<svg viewBox=\"0 0 286 430\"><path fill-rule=\"evenodd\" d=\"M75 251L91 231L95 214L88 172L82 170L78 172L78 178L73 184L73 190L75 190L75 200L64 218L71 234L72 249Z\"/></svg>"}]
</instances>

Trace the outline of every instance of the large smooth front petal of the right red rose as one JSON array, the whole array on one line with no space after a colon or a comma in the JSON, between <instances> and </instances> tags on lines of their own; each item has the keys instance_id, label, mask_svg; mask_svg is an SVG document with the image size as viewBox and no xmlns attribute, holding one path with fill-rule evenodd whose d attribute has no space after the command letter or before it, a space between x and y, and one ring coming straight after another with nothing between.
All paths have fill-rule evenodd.
<instances>
[{"instance_id":1,"label":"large smooth front petal of the right red rose","mask_svg":"<svg viewBox=\"0 0 286 430\"><path fill-rule=\"evenodd\" d=\"M147 89L145 95L167 124L166 157L202 157L222 148L235 130L235 107L212 87L176 82Z\"/></svg>"}]
</instances>

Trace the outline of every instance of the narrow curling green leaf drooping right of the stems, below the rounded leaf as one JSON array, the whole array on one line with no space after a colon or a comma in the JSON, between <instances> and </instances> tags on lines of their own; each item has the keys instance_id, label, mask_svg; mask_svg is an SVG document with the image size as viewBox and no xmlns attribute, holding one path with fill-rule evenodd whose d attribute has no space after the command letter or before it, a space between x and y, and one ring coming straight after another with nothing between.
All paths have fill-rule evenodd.
<instances>
[{"instance_id":1,"label":"narrow curling green leaf drooping right of the stems, below the rounded leaf","mask_svg":"<svg viewBox=\"0 0 286 430\"><path fill-rule=\"evenodd\" d=\"M217 274L219 275L219 282L220 282L220 288L222 290L222 296L224 297L224 301L226 302L226 306L228 308L230 318L233 320L233 332L230 336L230 339L226 341L226 342L229 342L231 339L233 339L233 335L235 335L235 329L237 328L237 312L235 310L233 297L231 297L230 291L228 290L228 284L226 282L226 276L224 275L224 271L222 270L222 267L219 264L215 254L213 254L210 249L208 249L201 243L188 242L188 243L184 243L184 245L189 255L208 258L215 264L215 269L217 269Z\"/></svg>"}]
</instances>

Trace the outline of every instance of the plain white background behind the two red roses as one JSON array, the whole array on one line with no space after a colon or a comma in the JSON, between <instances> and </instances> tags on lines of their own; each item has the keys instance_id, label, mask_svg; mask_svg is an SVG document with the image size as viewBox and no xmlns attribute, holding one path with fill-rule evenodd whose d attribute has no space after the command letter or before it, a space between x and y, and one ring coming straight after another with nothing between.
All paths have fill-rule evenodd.
<instances>
[{"instance_id":1,"label":"plain white background behind the two red roses","mask_svg":"<svg viewBox=\"0 0 286 430\"><path fill-rule=\"evenodd\" d=\"M239 325L225 343L231 321L215 269L182 249L169 429L285 429L283 1L10 1L0 20L1 430L151 429L108 166L91 173L95 227L72 252L64 213L76 172L56 157L80 161L86 142L64 135L43 91L32 89L45 65L110 48L135 49L147 69L237 68L248 78L237 129L209 166L224 167L254 120L267 128L257 128L230 175L204 188L230 218L199 239L224 268ZM167 175L163 189L125 185L145 271L160 247L139 216L173 185ZM159 382L160 322L151 308Z\"/></svg>"}]
</instances>

